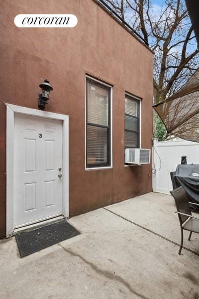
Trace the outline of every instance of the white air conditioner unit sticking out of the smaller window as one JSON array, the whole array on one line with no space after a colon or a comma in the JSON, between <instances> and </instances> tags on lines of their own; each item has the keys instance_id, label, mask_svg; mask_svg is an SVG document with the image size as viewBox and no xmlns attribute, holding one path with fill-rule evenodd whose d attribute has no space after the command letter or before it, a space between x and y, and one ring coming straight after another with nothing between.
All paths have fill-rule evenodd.
<instances>
[{"instance_id":1,"label":"white air conditioner unit sticking out of the smaller window","mask_svg":"<svg viewBox=\"0 0 199 299\"><path fill-rule=\"evenodd\" d=\"M125 149L125 163L149 164L151 149Z\"/></svg>"}]
</instances>

